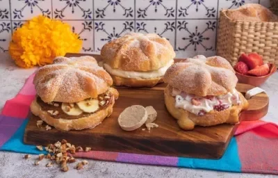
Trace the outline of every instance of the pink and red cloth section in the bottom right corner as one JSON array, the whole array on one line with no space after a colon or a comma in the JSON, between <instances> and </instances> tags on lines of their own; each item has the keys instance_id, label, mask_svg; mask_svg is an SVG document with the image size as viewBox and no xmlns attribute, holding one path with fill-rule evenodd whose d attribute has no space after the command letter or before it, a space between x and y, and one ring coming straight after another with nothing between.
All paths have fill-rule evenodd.
<instances>
[{"instance_id":1,"label":"pink and red cloth section in the bottom right corner","mask_svg":"<svg viewBox=\"0 0 278 178\"><path fill-rule=\"evenodd\" d=\"M243 172L278 175L278 127L265 122L236 136Z\"/></svg>"}]
</instances>

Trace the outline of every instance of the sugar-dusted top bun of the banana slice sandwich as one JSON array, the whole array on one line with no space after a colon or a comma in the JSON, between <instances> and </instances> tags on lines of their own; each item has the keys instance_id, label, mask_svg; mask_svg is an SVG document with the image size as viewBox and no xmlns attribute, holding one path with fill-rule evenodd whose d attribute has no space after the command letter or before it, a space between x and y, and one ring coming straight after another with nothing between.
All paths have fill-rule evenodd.
<instances>
[{"instance_id":1,"label":"sugar-dusted top bun of the banana slice sandwich","mask_svg":"<svg viewBox=\"0 0 278 178\"><path fill-rule=\"evenodd\" d=\"M35 90L43 102L79 102L96 98L113 84L111 76L91 56L57 57L35 74Z\"/></svg>"}]
</instances>

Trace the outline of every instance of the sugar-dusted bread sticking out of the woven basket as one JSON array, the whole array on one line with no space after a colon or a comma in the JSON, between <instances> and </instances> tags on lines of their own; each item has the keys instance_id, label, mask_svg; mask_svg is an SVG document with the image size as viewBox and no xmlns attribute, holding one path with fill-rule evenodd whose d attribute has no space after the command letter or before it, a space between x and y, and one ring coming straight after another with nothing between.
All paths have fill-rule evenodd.
<instances>
[{"instance_id":1,"label":"sugar-dusted bread sticking out of the woven basket","mask_svg":"<svg viewBox=\"0 0 278 178\"><path fill-rule=\"evenodd\" d=\"M275 22L278 21L277 15L273 14L268 8L259 3L247 3L240 8L227 10L226 15L233 20L246 22Z\"/></svg>"}]
</instances>

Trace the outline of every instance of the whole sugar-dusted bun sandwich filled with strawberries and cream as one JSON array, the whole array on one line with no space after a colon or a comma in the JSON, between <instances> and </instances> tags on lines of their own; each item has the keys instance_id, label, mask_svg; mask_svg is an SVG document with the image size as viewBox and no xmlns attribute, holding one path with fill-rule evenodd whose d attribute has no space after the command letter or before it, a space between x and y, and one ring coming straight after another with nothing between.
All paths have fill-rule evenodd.
<instances>
[{"instance_id":1,"label":"whole sugar-dusted bun sandwich filled with strawberries and cream","mask_svg":"<svg viewBox=\"0 0 278 178\"><path fill-rule=\"evenodd\" d=\"M184 130L239 122L248 102L236 90L233 67L219 56L195 56L172 65L163 78L165 105Z\"/></svg>"}]
</instances>

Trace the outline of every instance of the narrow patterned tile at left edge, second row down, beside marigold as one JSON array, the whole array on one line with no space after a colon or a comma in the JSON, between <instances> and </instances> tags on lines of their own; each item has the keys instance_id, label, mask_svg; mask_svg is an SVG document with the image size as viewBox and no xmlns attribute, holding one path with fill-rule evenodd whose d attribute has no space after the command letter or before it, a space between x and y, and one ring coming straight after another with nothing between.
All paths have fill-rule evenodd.
<instances>
[{"instance_id":1,"label":"narrow patterned tile at left edge, second row down, beside marigold","mask_svg":"<svg viewBox=\"0 0 278 178\"><path fill-rule=\"evenodd\" d=\"M8 51L8 44L12 34L10 21L0 21L0 52Z\"/></svg>"}]
</instances>

